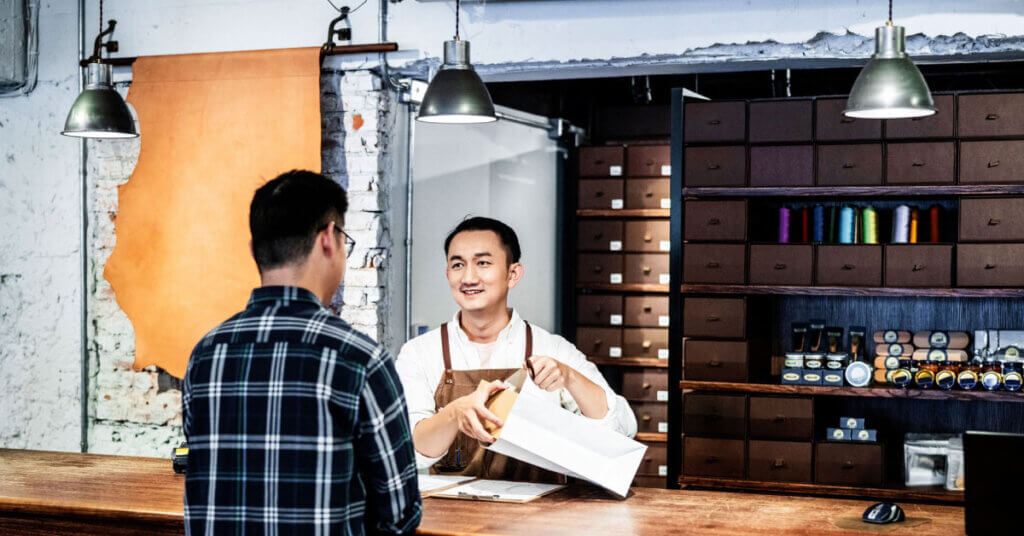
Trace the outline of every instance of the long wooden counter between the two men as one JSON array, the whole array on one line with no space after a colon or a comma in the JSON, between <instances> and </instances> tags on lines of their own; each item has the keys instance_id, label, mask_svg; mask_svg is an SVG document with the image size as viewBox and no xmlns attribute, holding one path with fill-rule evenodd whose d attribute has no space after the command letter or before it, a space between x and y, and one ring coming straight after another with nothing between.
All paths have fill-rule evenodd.
<instances>
[{"instance_id":1,"label":"long wooden counter between the two men","mask_svg":"<svg viewBox=\"0 0 1024 536\"><path fill-rule=\"evenodd\" d=\"M162 458L0 450L0 534L182 534L183 484ZM578 485L527 504L423 502L419 533L437 535L964 534L959 507L908 503L925 523L848 526L870 501L786 495L635 488L620 501Z\"/></svg>"}]
</instances>

